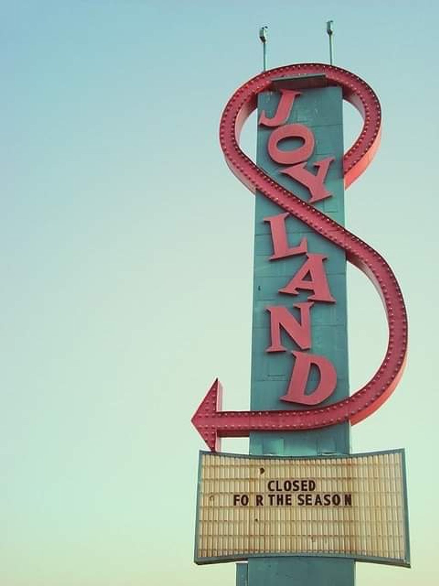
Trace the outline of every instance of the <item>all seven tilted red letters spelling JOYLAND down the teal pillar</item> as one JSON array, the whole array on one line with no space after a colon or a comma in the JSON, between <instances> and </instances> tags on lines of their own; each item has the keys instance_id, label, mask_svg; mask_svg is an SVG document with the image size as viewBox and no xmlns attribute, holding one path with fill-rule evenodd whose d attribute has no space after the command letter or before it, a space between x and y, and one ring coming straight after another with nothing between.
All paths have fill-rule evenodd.
<instances>
[{"instance_id":1,"label":"all seven tilted red letters spelling JOYLAND down the teal pillar","mask_svg":"<svg viewBox=\"0 0 439 586\"><path fill-rule=\"evenodd\" d=\"M281 173L289 175L311 193L310 203L315 203L331 194L324 186L329 166L334 157L327 157L314 163L317 173L306 169L306 162L313 154L315 139L313 132L303 124L286 124L294 100L300 96L299 92L282 90L273 118L267 118L265 111L259 118L259 124L272 127L273 130L267 141L267 151L276 163L289 165ZM294 149L282 150L279 146L284 139L294 138L301 141L301 145ZM266 352L286 352L281 341L281 329L289 335L300 350L310 350L311 340L311 307L313 302L335 303L331 295L327 274L325 272L323 254L310 253L307 239L301 239L296 246L290 246L287 238L286 219L288 213L278 214L265 218L270 224L273 243L273 254L270 261L280 260L299 254L306 254L306 260L299 267L290 281L279 293L284 295L298 295L299 291L308 291L308 301L294 304L299 309L300 321L289 309L282 305L270 305L266 310L270 314L270 345ZM286 394L280 400L303 405L318 405L334 392L337 386L337 372L334 365L325 356L293 351L294 364ZM313 390L307 390L307 382L311 368L316 369L320 380Z\"/></svg>"}]
</instances>

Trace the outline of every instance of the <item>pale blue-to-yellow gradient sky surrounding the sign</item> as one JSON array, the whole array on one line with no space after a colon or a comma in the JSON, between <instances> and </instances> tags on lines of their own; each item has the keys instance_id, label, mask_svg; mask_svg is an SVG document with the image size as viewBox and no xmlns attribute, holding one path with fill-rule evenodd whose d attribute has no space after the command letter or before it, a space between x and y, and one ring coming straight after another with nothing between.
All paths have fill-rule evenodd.
<instances>
[{"instance_id":1,"label":"pale blue-to-yellow gradient sky surrounding the sign","mask_svg":"<svg viewBox=\"0 0 439 586\"><path fill-rule=\"evenodd\" d=\"M253 196L218 121L260 70L259 26L270 67L324 62L330 18L335 64L383 110L346 224L392 265L410 319L402 383L352 443L407 449L413 568L357 564L357 584L437 584L437 2L15 0L0 11L2 586L234 584L235 564L192 561L191 415L216 376L225 408L249 401ZM355 390L386 328L348 277Z\"/></svg>"}]
</instances>

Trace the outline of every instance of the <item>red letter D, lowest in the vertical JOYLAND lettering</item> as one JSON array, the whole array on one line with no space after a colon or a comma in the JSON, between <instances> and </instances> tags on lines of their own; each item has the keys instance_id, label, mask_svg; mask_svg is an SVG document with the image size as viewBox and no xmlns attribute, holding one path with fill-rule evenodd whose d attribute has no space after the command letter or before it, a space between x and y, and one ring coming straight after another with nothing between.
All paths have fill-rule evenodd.
<instances>
[{"instance_id":1,"label":"red letter D, lowest in the vertical JOYLAND lettering","mask_svg":"<svg viewBox=\"0 0 439 586\"><path fill-rule=\"evenodd\" d=\"M315 356L304 352L293 352L296 361L293 366L287 394L280 397L282 401L300 403L301 405L318 405L334 392L337 385L337 372L334 365L324 356ZM305 394L306 383L310 374L311 364L317 366L320 372L320 381L317 387Z\"/></svg>"}]
</instances>

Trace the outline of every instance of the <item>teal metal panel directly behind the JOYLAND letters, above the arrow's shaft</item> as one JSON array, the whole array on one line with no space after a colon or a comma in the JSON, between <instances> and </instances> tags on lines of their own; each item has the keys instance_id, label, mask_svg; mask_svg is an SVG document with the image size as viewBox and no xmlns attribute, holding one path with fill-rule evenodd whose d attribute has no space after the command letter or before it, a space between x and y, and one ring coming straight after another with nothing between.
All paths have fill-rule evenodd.
<instances>
[{"instance_id":1,"label":"teal metal panel directly behind the JOYLAND letters, above the arrow's shaft","mask_svg":"<svg viewBox=\"0 0 439 586\"><path fill-rule=\"evenodd\" d=\"M258 111L265 110L270 117L274 114L279 94L269 92L259 96ZM332 193L332 197L316 203L321 209L338 223L344 224L344 188L342 172L343 139L342 139L342 94L341 88L328 87L313 90L302 90L301 96L296 98L290 115L289 123L299 122L306 124L313 131L315 137L314 153L310 163L320 160L324 156L335 156L331 163L325 186ZM278 165L267 154L267 139L272 128L258 127L258 154L257 162L270 176L285 188L292 190L297 196L308 201L308 189L297 183L289 176L282 175L283 165ZM296 139L283 141L282 149L296 147ZM310 166L308 163L308 166ZM283 209L267 200L264 196L256 195L255 215L255 252L254 252L254 282L253 282L253 326L252 326L252 381L251 381L251 409L277 410L297 409L297 404L291 405L279 400L286 393L289 383L293 357L290 350L300 350L299 346L282 333L282 343L289 350L282 353L267 353L269 339L269 313L267 305L283 305L289 309L297 302L306 301L307 291L300 291L298 295L280 294L280 288L290 281L304 262L303 255L269 261L272 250L272 239L269 223L264 222L266 217L283 213ZM327 255L324 263L328 277L330 291L336 299L335 304L315 302L311 308L311 352L324 355L331 360L337 370L337 387L330 398L322 406L349 395L348 383L348 351L347 351L347 294L346 294L346 260L343 250L314 233L307 226L291 216L286 220L287 234L290 246L299 244L302 237L307 238L308 250L311 253ZM311 385L317 384L318 374L310 376L308 390ZM320 434L320 431L317 432ZM252 436L255 434L252 434ZM296 439L299 438L296 435ZM321 443L321 442L320 442ZM251 440L252 444L252 440ZM325 448L325 451L327 449ZM342 450L349 452L349 438ZM251 449L251 453L253 452ZM294 455L294 454L291 454Z\"/></svg>"}]
</instances>

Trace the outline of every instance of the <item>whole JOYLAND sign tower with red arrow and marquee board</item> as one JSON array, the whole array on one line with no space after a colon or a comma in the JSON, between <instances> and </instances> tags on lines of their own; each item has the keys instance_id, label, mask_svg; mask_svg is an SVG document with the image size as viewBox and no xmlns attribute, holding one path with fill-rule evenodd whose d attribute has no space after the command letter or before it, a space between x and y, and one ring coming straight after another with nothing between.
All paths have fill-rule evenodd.
<instances>
[{"instance_id":1,"label":"whole JOYLAND sign tower with red arrow and marquee board","mask_svg":"<svg viewBox=\"0 0 439 586\"><path fill-rule=\"evenodd\" d=\"M342 101L363 118L344 154ZM239 148L258 110L256 164ZM402 376L407 316L392 269L345 228L344 192L378 149L380 105L349 71L263 71L230 98L219 139L256 197L251 410L222 411L215 380L193 417L200 453L195 561L246 561L239 586L353 586L355 561L409 566L404 451L351 454L351 425ZM346 265L375 285L388 345L361 389L348 380ZM221 437L249 435L248 455Z\"/></svg>"}]
</instances>

